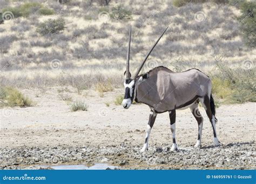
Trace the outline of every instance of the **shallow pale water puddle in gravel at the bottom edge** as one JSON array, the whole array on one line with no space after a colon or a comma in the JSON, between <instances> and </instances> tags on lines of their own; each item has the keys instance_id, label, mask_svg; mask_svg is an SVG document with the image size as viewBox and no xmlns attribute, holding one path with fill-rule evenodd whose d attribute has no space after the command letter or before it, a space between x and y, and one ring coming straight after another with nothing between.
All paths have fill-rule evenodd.
<instances>
[{"instance_id":1,"label":"shallow pale water puddle in gravel at the bottom edge","mask_svg":"<svg viewBox=\"0 0 256 184\"><path fill-rule=\"evenodd\" d=\"M53 168L56 170L105 170L105 169L115 169L118 168L116 166L110 166L108 164L95 164L93 166L86 166L86 165L43 165L40 166L41 168Z\"/></svg>"}]
</instances>

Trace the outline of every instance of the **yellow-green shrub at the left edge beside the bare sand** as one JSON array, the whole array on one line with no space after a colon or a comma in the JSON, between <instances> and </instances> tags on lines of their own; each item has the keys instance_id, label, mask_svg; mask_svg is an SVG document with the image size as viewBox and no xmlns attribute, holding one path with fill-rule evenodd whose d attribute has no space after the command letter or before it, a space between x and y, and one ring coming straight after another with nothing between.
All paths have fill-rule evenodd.
<instances>
[{"instance_id":1,"label":"yellow-green shrub at the left edge beside the bare sand","mask_svg":"<svg viewBox=\"0 0 256 184\"><path fill-rule=\"evenodd\" d=\"M0 100L2 106L30 107L33 102L20 91L12 87L1 88Z\"/></svg>"}]
</instances>

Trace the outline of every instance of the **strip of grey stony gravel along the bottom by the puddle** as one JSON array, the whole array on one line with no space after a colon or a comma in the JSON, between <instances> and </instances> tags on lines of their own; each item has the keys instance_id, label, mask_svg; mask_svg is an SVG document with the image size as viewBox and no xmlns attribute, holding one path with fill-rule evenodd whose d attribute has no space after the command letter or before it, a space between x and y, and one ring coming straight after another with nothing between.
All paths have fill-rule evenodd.
<instances>
[{"instance_id":1,"label":"strip of grey stony gravel along the bottom by the puddle","mask_svg":"<svg viewBox=\"0 0 256 184\"><path fill-rule=\"evenodd\" d=\"M219 147L140 146L122 143L106 147L16 147L0 149L0 169L45 169L39 165L105 162L120 169L255 169L255 143L230 143ZM46 169L51 169L48 167Z\"/></svg>"}]
</instances>

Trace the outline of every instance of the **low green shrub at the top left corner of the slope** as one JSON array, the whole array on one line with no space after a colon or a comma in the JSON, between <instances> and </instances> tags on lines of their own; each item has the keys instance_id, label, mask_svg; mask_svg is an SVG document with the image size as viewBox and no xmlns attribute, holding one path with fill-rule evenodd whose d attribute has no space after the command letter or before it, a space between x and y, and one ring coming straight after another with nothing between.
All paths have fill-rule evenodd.
<instances>
[{"instance_id":1,"label":"low green shrub at the top left corner of the slope","mask_svg":"<svg viewBox=\"0 0 256 184\"><path fill-rule=\"evenodd\" d=\"M14 14L14 17L28 17L32 13L38 12L39 15L53 15L55 11L44 7L40 3L36 2L27 2L17 7L6 7L2 12L11 11Z\"/></svg>"}]
</instances>

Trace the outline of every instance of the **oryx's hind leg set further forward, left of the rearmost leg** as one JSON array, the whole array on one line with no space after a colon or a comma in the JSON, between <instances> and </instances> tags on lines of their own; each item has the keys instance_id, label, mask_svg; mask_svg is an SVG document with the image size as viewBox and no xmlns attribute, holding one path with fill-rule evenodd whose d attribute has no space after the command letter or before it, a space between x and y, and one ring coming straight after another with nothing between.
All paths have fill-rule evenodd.
<instances>
[{"instance_id":1,"label":"oryx's hind leg set further forward, left of the rearmost leg","mask_svg":"<svg viewBox=\"0 0 256 184\"><path fill-rule=\"evenodd\" d=\"M197 144L194 145L194 147L200 147L201 146L201 139L202 139L202 130L203 130L203 121L204 118L201 116L199 109L198 109L198 103L199 100L197 100L193 105L191 105L190 110L194 116L194 118L197 119L198 123L198 138L197 138Z\"/></svg>"}]
</instances>

